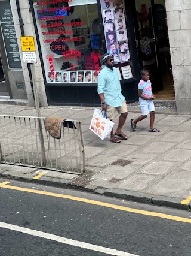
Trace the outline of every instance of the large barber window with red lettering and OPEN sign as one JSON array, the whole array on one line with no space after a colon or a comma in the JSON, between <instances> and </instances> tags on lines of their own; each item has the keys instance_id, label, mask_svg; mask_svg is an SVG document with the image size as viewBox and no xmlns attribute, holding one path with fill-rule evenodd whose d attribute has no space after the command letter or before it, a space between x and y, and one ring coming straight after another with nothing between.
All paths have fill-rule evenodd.
<instances>
[{"instance_id":1,"label":"large barber window with red lettering and OPEN sign","mask_svg":"<svg viewBox=\"0 0 191 256\"><path fill-rule=\"evenodd\" d=\"M97 83L103 55L96 0L33 2L48 83Z\"/></svg>"}]
</instances>

